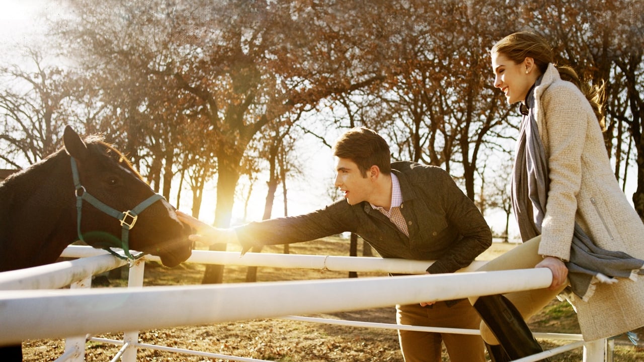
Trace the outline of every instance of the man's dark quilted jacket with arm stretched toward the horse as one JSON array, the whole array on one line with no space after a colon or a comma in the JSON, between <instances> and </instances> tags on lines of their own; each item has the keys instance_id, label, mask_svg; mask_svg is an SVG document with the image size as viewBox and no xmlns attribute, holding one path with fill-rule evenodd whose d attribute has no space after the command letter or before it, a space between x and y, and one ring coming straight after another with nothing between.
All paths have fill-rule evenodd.
<instances>
[{"instance_id":1,"label":"man's dark quilted jacket with arm stretched toward the horse","mask_svg":"<svg viewBox=\"0 0 644 362\"><path fill-rule=\"evenodd\" d=\"M394 162L392 173L403 194L401 213L409 237L368 202L349 205L342 199L312 213L236 227L240 243L247 249L352 232L383 258L436 260L427 269L431 274L455 272L488 249L492 243L488 224L446 171L415 162Z\"/></svg>"}]
</instances>

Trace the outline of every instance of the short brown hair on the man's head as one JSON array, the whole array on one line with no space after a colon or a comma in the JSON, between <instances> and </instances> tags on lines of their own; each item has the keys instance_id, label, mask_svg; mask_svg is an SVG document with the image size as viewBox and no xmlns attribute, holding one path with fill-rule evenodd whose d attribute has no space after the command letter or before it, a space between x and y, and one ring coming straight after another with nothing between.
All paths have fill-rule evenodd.
<instances>
[{"instance_id":1,"label":"short brown hair on the man's head","mask_svg":"<svg viewBox=\"0 0 644 362\"><path fill-rule=\"evenodd\" d=\"M385 175L392 172L389 145L381 135L366 127L352 128L341 135L333 146L333 155L355 162L363 177L374 165Z\"/></svg>"}]
</instances>

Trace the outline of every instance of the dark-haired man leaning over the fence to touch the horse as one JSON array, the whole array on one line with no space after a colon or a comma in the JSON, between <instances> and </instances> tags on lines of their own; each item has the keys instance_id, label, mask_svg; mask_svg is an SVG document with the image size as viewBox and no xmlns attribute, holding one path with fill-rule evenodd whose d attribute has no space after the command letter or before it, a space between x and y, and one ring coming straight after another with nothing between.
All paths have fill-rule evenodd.
<instances>
[{"instance_id":1,"label":"dark-haired man leaning over the fence to touch the horse","mask_svg":"<svg viewBox=\"0 0 644 362\"><path fill-rule=\"evenodd\" d=\"M430 274L455 272L488 249L492 236L477 207L443 169L415 162L390 163L385 140L367 128L354 128L337 140L336 186L346 200L313 213L234 229L214 229L185 214L182 221L200 235L193 240L254 245L305 242L350 231L383 258L435 260ZM397 305L404 325L478 329L480 318L468 300ZM452 362L484 362L480 336L399 330L406 362L441 361L444 342Z\"/></svg>"}]
</instances>

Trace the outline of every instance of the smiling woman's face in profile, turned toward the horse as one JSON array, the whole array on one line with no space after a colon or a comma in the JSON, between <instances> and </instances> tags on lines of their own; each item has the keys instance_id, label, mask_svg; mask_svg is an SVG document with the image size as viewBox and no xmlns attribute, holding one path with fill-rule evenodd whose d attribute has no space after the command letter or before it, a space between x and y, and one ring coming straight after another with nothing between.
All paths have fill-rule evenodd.
<instances>
[{"instance_id":1,"label":"smiling woman's face in profile, turned toward the horse","mask_svg":"<svg viewBox=\"0 0 644 362\"><path fill-rule=\"evenodd\" d=\"M532 58L517 64L502 53L491 53L491 57L494 86L503 91L509 104L525 100L538 77Z\"/></svg>"}]
</instances>

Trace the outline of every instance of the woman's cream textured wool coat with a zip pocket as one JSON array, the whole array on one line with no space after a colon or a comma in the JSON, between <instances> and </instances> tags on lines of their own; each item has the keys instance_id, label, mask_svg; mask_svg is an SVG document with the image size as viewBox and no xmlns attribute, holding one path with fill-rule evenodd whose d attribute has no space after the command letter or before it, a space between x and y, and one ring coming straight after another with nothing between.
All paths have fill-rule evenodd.
<instances>
[{"instance_id":1,"label":"woman's cream textured wool coat with a zip pocket","mask_svg":"<svg viewBox=\"0 0 644 362\"><path fill-rule=\"evenodd\" d=\"M600 126L582 92L549 64L535 100L550 177L539 254L569 260L576 221L600 247L644 260L644 224L613 175ZM644 276L597 283L589 301L573 303L588 341L642 327Z\"/></svg>"}]
</instances>

